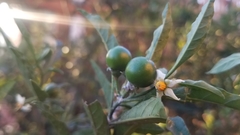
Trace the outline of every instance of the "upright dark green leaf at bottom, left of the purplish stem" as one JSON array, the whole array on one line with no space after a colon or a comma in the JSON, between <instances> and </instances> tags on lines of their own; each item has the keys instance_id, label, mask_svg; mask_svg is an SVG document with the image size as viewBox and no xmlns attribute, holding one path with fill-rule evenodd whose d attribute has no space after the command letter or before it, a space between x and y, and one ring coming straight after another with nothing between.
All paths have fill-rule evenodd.
<instances>
[{"instance_id":1,"label":"upright dark green leaf at bottom, left of the purplish stem","mask_svg":"<svg viewBox=\"0 0 240 135\"><path fill-rule=\"evenodd\" d=\"M94 129L94 135L110 135L107 117L104 114L100 103L98 101L95 101L89 105L84 103L84 108L88 117L90 118L90 122Z\"/></svg>"}]
</instances>

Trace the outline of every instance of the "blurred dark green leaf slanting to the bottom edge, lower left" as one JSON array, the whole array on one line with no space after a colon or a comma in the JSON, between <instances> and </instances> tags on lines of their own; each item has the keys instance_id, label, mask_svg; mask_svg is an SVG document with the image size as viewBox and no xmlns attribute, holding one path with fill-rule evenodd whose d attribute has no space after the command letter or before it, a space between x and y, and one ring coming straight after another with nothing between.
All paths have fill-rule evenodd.
<instances>
[{"instance_id":1,"label":"blurred dark green leaf slanting to the bottom edge, lower left","mask_svg":"<svg viewBox=\"0 0 240 135\"><path fill-rule=\"evenodd\" d=\"M42 114L44 117L47 118L47 120L50 121L50 123L53 125L54 129L57 131L58 135L70 135L65 123L58 120L55 117L55 115L53 115L52 113L50 113L46 110L43 110Z\"/></svg>"}]
</instances>

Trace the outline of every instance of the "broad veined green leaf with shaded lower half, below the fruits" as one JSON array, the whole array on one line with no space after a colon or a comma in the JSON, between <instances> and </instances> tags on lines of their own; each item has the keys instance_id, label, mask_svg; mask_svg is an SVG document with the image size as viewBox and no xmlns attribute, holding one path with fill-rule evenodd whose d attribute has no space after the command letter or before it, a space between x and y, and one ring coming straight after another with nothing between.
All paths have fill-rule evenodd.
<instances>
[{"instance_id":1,"label":"broad veined green leaf with shaded lower half, below the fruits","mask_svg":"<svg viewBox=\"0 0 240 135\"><path fill-rule=\"evenodd\" d=\"M161 99L150 98L135 104L123 113L118 121L110 124L114 126L114 135L129 135L133 132L157 134L162 133L163 129L154 123L165 122L165 120L166 114Z\"/></svg>"}]
</instances>

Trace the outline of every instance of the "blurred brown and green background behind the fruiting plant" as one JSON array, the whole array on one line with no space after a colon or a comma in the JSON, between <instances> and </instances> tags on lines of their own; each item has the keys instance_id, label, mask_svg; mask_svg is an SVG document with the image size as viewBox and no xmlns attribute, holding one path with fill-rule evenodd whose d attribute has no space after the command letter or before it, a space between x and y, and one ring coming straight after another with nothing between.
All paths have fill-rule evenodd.
<instances>
[{"instance_id":1,"label":"blurred brown and green background behind the fruiting plant","mask_svg":"<svg viewBox=\"0 0 240 135\"><path fill-rule=\"evenodd\" d=\"M135 57L145 56L152 41L153 31L161 24L161 12L168 1L0 0L0 2L7 2L17 24L27 28L37 56L47 51L48 47L52 51L50 58L40 62L44 71L39 71L30 48L26 45L26 39L20 37L21 43L16 44L22 52L19 59L25 62L23 65L19 65L11 51L5 47L5 43L0 42L1 90L6 82L16 81L0 101L0 135L56 134L49 121L36 107L33 106L29 111L17 108L18 101L15 98L17 94L26 99L33 96L31 88L24 81L23 74L39 81L40 72L46 73L42 82L43 89L51 89L54 103L60 105L62 109L56 110L65 113L64 122L71 133L77 135L88 134L90 126L82 100L87 103L99 100L106 107L90 60L96 61L110 78L110 72L106 70L106 50L101 38L77 9L102 16L111 25L119 44L128 48ZM176 60L185 43L191 23L200 12L204 0L170 0L169 2L173 28L158 65L166 69L170 69ZM205 80L212 85L239 94L240 76L235 71L221 75L206 74L220 58L240 51L239 29L240 3L237 0L216 0L214 21L204 45L178 69L175 77ZM19 68L23 68L24 73ZM48 72L53 68L56 72ZM182 104L166 101L165 104L173 108L176 115L184 118L192 134L231 135L240 132L239 111L210 103Z\"/></svg>"}]
</instances>

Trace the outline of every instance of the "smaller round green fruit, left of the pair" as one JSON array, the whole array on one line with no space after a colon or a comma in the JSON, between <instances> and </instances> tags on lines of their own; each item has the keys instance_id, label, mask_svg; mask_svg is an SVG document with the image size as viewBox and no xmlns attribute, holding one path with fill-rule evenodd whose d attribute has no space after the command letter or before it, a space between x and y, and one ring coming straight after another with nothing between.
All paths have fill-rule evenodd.
<instances>
[{"instance_id":1,"label":"smaller round green fruit, left of the pair","mask_svg":"<svg viewBox=\"0 0 240 135\"><path fill-rule=\"evenodd\" d=\"M124 71L131 59L131 53L123 46L116 46L110 49L106 55L108 67L115 71Z\"/></svg>"}]
</instances>

